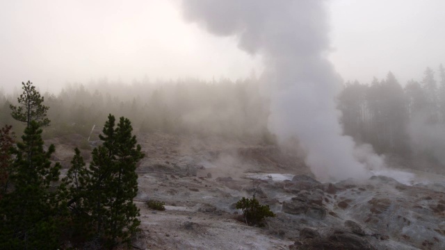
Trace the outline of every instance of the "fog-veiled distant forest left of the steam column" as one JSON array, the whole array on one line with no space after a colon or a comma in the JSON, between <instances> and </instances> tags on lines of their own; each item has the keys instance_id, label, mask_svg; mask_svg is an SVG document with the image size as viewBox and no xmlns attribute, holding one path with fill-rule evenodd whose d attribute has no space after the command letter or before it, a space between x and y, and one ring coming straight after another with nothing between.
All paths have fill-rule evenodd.
<instances>
[{"instance_id":1,"label":"fog-veiled distant forest left of the steam column","mask_svg":"<svg viewBox=\"0 0 445 250\"><path fill-rule=\"evenodd\" d=\"M19 85L19 83L17 83ZM23 125L10 116L9 103L19 94L0 94L0 125ZM88 137L93 125L109 113L128 117L142 132L198 133L233 137L268 136L268 100L259 93L259 81L156 81L125 85L99 81L67 85L59 94L44 92L51 126L44 137L79 133Z\"/></svg>"}]
</instances>

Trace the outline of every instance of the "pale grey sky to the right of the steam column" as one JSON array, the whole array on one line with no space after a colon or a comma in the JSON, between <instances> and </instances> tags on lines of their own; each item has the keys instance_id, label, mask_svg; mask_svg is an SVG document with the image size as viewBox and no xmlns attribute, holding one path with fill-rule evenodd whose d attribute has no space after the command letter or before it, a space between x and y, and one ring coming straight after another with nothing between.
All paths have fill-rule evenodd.
<instances>
[{"instance_id":1,"label":"pale grey sky to the right of the steam column","mask_svg":"<svg viewBox=\"0 0 445 250\"><path fill-rule=\"evenodd\" d=\"M371 82L388 71L401 84L445 65L445 1L332 0L330 59L344 80Z\"/></svg>"}]
</instances>

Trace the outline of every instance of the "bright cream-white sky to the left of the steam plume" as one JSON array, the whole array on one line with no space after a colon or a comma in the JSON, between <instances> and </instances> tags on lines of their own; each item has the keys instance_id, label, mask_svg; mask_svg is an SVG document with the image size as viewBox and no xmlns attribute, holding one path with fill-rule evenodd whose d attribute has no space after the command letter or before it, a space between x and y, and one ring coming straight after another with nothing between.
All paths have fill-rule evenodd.
<instances>
[{"instance_id":1,"label":"bright cream-white sky to the left of the steam plume","mask_svg":"<svg viewBox=\"0 0 445 250\"><path fill-rule=\"evenodd\" d=\"M33 81L58 92L65 83L146 76L245 78L261 63L182 21L177 1L13 1L0 3L0 85Z\"/></svg>"}]
</instances>

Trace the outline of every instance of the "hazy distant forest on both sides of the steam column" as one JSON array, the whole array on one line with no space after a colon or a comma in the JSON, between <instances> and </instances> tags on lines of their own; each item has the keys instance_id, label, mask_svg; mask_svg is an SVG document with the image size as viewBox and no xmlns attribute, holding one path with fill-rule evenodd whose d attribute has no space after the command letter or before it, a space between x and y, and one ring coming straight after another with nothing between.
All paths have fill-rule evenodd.
<instances>
[{"instance_id":1,"label":"hazy distant forest on both sides of the steam column","mask_svg":"<svg viewBox=\"0 0 445 250\"><path fill-rule=\"evenodd\" d=\"M143 81L131 85L106 80L67 85L59 94L45 92L51 126L44 136L79 133L88 137L108 113L128 117L141 132L196 133L234 138L275 138L267 129L269 100L254 76L243 81ZM19 83L17 83L19 85ZM9 103L18 94L0 94L0 125L12 124ZM289 107L291 108L291 107ZM371 83L347 82L338 96L344 133L378 153L426 156L445 163L445 69L427 68L420 81L404 86L389 72Z\"/></svg>"}]
</instances>

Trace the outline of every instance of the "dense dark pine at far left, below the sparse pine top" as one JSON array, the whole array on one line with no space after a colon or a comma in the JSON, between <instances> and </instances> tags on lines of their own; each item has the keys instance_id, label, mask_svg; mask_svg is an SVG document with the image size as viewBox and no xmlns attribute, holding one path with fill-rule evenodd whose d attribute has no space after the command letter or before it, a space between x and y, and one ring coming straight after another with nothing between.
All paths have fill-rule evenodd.
<instances>
[{"instance_id":1,"label":"dense dark pine at far left, below the sparse pine top","mask_svg":"<svg viewBox=\"0 0 445 250\"><path fill-rule=\"evenodd\" d=\"M59 231L55 193L60 165L49 160L55 147L43 149L42 129L31 121L23 142L13 148L15 156L10 181L13 191L0 201L0 249L56 249Z\"/></svg>"}]
</instances>

